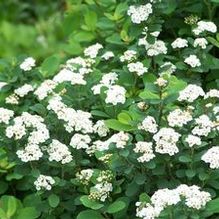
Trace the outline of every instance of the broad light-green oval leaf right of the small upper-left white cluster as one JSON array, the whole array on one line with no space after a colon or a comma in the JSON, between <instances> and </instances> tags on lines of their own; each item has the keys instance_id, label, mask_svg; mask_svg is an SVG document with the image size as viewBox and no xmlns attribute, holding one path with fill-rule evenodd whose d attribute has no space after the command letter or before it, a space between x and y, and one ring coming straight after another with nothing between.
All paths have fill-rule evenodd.
<instances>
[{"instance_id":1,"label":"broad light-green oval leaf right of the small upper-left white cluster","mask_svg":"<svg viewBox=\"0 0 219 219\"><path fill-rule=\"evenodd\" d=\"M57 55L50 56L43 61L40 72L44 77L52 76L59 68L59 64L60 58Z\"/></svg>"}]
</instances>

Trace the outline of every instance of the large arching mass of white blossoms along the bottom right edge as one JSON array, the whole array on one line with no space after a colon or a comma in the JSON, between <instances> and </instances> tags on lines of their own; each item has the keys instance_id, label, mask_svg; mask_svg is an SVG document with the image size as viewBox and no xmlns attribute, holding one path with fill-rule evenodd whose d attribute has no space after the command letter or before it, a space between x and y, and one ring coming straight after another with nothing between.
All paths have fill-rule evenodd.
<instances>
[{"instance_id":1,"label":"large arching mass of white blossoms along the bottom right edge","mask_svg":"<svg viewBox=\"0 0 219 219\"><path fill-rule=\"evenodd\" d=\"M143 219L155 219L168 206L184 201L192 209L201 209L211 200L208 192L201 191L198 186L182 184L176 189L160 189L151 197L151 203L137 202L136 216Z\"/></svg>"}]
</instances>

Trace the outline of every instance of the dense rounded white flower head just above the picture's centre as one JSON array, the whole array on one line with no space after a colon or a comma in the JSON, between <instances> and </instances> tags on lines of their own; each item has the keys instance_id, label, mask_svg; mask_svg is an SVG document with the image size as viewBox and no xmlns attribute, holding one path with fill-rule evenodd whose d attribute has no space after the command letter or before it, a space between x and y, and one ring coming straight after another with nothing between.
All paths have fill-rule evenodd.
<instances>
[{"instance_id":1,"label":"dense rounded white flower head just above the picture's centre","mask_svg":"<svg viewBox=\"0 0 219 219\"><path fill-rule=\"evenodd\" d=\"M111 103L113 105L117 105L118 103L124 104L125 103L125 94L126 89L119 85L113 85L109 87L106 91L106 103Z\"/></svg>"}]
</instances>

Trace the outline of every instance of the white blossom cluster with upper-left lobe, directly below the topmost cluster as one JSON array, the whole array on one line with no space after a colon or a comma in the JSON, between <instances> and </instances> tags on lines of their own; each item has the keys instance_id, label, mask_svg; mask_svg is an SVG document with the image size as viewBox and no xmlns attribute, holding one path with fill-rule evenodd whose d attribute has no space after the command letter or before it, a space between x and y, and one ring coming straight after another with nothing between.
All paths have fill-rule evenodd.
<instances>
[{"instance_id":1,"label":"white blossom cluster with upper-left lobe, directly below the topmost cluster","mask_svg":"<svg viewBox=\"0 0 219 219\"><path fill-rule=\"evenodd\" d=\"M167 47L162 40L155 40L153 44L147 42L146 38L142 38L139 43L139 46L144 45L147 51L148 56L157 56L160 54L167 54Z\"/></svg>"}]
</instances>

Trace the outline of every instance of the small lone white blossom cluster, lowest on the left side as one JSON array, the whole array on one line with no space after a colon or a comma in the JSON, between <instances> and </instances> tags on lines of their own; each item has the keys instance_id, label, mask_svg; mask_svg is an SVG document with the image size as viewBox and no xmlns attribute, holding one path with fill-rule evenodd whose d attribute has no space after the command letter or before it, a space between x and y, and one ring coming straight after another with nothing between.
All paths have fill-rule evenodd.
<instances>
[{"instance_id":1,"label":"small lone white blossom cluster, lowest on the left side","mask_svg":"<svg viewBox=\"0 0 219 219\"><path fill-rule=\"evenodd\" d=\"M34 182L37 190L51 190L52 185L55 184L55 180L51 176L39 175L37 180Z\"/></svg>"}]
</instances>

